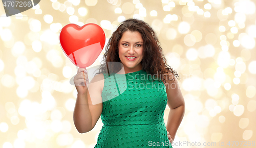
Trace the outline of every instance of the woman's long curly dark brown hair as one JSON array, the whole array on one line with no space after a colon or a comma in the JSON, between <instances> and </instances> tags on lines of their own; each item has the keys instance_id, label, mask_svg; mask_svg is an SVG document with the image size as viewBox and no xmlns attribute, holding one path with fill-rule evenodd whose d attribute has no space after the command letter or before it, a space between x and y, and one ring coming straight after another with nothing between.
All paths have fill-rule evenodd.
<instances>
[{"instance_id":1,"label":"woman's long curly dark brown hair","mask_svg":"<svg viewBox=\"0 0 256 148\"><path fill-rule=\"evenodd\" d=\"M173 76L177 78L179 77L177 71L173 70L173 68L166 63L166 59L164 57L164 54L162 53L162 47L160 46L160 42L154 30L150 27L148 23L139 19L134 19L134 18L124 20L116 29L116 31L113 32L111 38L109 39L108 44L106 45L106 48L105 48L106 52L103 55L103 64L101 63L98 73L107 72L110 75L110 73L117 72L122 68L120 64L108 65L108 63L120 62L120 58L118 55L118 43L123 33L126 31L131 31L131 32L137 31L142 36L142 39L143 39L142 54L143 54L143 57L146 57L146 58L143 58L141 61L142 69L144 71L146 71L147 73L150 73L151 76L156 75L158 81L161 79L163 80L164 84L166 82L166 79L170 78L169 77L170 74L173 74ZM109 69L109 72L106 69ZM165 75L168 77L165 78L160 75L163 75L163 76Z\"/></svg>"}]
</instances>

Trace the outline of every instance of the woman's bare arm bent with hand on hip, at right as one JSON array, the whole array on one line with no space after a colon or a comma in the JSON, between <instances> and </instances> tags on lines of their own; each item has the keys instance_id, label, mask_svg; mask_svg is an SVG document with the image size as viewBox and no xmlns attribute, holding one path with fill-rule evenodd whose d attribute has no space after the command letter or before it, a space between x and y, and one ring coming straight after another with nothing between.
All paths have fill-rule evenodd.
<instances>
[{"instance_id":1,"label":"woman's bare arm bent with hand on hip, at right","mask_svg":"<svg viewBox=\"0 0 256 148\"><path fill-rule=\"evenodd\" d=\"M185 113L185 102L178 84L178 80L172 73L170 73L169 76L169 80L165 83L168 98L167 105L170 108L166 130L169 132L170 137L174 140ZM172 79L175 79L175 81Z\"/></svg>"}]
</instances>

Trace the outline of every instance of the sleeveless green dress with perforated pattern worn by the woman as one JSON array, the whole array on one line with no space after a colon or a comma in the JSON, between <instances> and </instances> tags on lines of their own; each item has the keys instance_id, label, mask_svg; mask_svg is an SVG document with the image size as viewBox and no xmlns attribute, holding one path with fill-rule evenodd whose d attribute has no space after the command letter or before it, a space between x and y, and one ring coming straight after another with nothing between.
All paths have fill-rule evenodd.
<instances>
[{"instance_id":1,"label":"sleeveless green dress with perforated pattern worn by the woman","mask_svg":"<svg viewBox=\"0 0 256 148\"><path fill-rule=\"evenodd\" d=\"M150 81L144 70L103 75L103 126L95 147L172 147L163 120L167 104L163 82Z\"/></svg>"}]
</instances>

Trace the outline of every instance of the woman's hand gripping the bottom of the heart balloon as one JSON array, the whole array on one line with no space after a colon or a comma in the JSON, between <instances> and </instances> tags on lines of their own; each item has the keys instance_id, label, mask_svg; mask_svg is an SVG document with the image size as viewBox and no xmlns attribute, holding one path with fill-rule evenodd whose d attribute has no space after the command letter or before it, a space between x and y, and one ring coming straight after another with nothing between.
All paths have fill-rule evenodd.
<instances>
[{"instance_id":1,"label":"woman's hand gripping the bottom of the heart balloon","mask_svg":"<svg viewBox=\"0 0 256 148\"><path fill-rule=\"evenodd\" d=\"M89 85L89 78L86 68L78 68L77 74L74 77L74 83L78 94L85 94Z\"/></svg>"}]
</instances>

